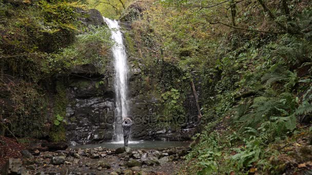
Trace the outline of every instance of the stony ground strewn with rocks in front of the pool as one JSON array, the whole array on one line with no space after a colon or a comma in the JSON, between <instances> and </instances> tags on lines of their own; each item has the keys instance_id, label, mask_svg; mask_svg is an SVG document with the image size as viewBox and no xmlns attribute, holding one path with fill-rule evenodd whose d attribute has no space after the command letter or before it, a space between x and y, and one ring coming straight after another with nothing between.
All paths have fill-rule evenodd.
<instances>
[{"instance_id":1,"label":"stony ground strewn with rocks in front of the pool","mask_svg":"<svg viewBox=\"0 0 312 175\"><path fill-rule=\"evenodd\" d=\"M188 150L66 147L32 145L21 151L21 158L9 158L2 174L174 174Z\"/></svg>"}]
</instances>

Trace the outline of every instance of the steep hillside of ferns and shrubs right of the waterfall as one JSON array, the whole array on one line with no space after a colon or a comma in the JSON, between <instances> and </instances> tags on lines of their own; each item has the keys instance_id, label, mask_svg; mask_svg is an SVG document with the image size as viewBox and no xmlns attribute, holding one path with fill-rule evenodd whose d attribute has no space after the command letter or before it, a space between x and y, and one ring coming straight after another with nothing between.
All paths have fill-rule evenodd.
<instances>
[{"instance_id":1,"label":"steep hillside of ferns and shrubs right of the waterfall","mask_svg":"<svg viewBox=\"0 0 312 175\"><path fill-rule=\"evenodd\" d=\"M140 93L161 101L160 121L188 119L195 84L200 132L180 173L310 172L311 12L309 1L137 1L124 11Z\"/></svg>"}]
</instances>

